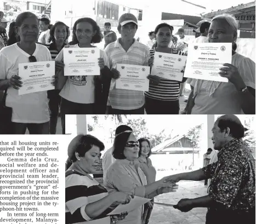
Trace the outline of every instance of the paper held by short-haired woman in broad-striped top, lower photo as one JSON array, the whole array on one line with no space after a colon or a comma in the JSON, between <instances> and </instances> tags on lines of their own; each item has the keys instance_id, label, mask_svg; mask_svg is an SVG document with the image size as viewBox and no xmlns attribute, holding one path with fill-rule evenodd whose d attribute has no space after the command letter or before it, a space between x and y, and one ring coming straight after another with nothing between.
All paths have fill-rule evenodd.
<instances>
[{"instance_id":1,"label":"paper held by short-haired woman in broad-striped top, lower photo","mask_svg":"<svg viewBox=\"0 0 256 224\"><path fill-rule=\"evenodd\" d=\"M139 206L144 205L145 203L149 202L151 199L149 198L141 198L138 196L134 196L134 198L130 199L130 202L128 204L120 204L118 205L113 211L111 211L107 215L117 215L124 211L132 211L136 208L139 208Z\"/></svg>"}]
</instances>

